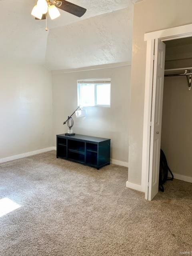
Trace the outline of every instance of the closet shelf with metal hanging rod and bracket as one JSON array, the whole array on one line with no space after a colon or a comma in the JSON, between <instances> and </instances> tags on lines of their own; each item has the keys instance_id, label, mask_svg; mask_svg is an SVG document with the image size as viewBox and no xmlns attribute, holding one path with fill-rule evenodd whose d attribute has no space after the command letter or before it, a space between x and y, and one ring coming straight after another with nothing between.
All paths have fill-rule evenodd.
<instances>
[{"instance_id":1,"label":"closet shelf with metal hanging rod and bracket","mask_svg":"<svg viewBox=\"0 0 192 256\"><path fill-rule=\"evenodd\" d=\"M164 76L186 76L188 88L191 90L192 68L165 69Z\"/></svg>"}]
</instances>

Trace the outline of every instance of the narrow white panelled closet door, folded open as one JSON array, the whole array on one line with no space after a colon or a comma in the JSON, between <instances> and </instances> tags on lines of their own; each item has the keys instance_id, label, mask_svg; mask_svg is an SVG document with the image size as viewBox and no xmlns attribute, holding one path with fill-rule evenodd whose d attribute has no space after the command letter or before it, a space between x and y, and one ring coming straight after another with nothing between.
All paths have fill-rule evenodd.
<instances>
[{"instance_id":1,"label":"narrow white panelled closet door, folded open","mask_svg":"<svg viewBox=\"0 0 192 256\"><path fill-rule=\"evenodd\" d=\"M159 186L164 66L165 44L159 39L156 39L154 51L154 76L152 91L148 200L152 200L154 196L156 196Z\"/></svg>"}]
</instances>

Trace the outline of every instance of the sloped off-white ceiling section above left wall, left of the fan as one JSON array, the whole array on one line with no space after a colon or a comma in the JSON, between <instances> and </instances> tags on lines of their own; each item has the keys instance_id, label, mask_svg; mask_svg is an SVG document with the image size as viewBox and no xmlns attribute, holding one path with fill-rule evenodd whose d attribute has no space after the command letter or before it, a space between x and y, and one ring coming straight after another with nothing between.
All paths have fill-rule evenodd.
<instances>
[{"instance_id":1,"label":"sloped off-white ceiling section above left wall, left of the fan","mask_svg":"<svg viewBox=\"0 0 192 256\"><path fill-rule=\"evenodd\" d=\"M33 0L0 1L0 60L42 63L48 33L30 15Z\"/></svg>"}]
</instances>

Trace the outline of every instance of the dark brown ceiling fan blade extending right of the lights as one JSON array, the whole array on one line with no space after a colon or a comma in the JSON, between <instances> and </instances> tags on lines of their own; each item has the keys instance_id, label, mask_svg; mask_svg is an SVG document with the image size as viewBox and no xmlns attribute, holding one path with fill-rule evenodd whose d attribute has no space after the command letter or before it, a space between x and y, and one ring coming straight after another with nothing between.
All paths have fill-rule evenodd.
<instances>
[{"instance_id":1,"label":"dark brown ceiling fan blade extending right of the lights","mask_svg":"<svg viewBox=\"0 0 192 256\"><path fill-rule=\"evenodd\" d=\"M76 4L72 4L68 1L61 0L61 1L56 1L55 6L61 10L64 10L66 12L69 12L75 16L81 17L85 14L86 10L83 7L80 7Z\"/></svg>"}]
</instances>

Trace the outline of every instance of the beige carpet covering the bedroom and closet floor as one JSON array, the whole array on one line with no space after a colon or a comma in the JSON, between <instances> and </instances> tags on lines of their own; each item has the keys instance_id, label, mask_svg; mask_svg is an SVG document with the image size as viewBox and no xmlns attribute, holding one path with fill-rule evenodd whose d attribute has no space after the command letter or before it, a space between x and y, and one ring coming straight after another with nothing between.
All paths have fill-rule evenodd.
<instances>
[{"instance_id":1,"label":"beige carpet covering the bedroom and closet floor","mask_svg":"<svg viewBox=\"0 0 192 256\"><path fill-rule=\"evenodd\" d=\"M127 168L100 171L55 151L0 164L0 256L177 256L192 251L192 184L167 182L148 202Z\"/></svg>"}]
</instances>

